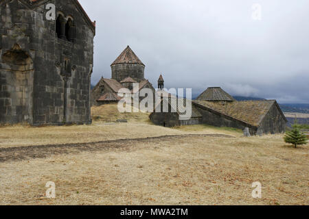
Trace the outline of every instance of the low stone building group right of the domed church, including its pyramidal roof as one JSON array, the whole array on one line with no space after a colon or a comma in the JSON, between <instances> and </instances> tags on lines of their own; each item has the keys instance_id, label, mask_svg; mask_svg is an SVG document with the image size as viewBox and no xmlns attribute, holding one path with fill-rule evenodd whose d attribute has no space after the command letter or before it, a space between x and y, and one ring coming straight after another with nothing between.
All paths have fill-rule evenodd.
<instances>
[{"instance_id":1,"label":"low stone building group right of the domed church, including its pyramidal roof","mask_svg":"<svg viewBox=\"0 0 309 219\"><path fill-rule=\"evenodd\" d=\"M169 103L171 104L171 103ZM170 109L169 109L170 110ZM178 112L178 111L177 111ZM251 135L284 133L286 117L277 101L236 101L221 88L208 88L192 101L192 119L180 121L177 113L152 113L157 125L207 124L216 127L249 128Z\"/></svg>"}]
</instances>

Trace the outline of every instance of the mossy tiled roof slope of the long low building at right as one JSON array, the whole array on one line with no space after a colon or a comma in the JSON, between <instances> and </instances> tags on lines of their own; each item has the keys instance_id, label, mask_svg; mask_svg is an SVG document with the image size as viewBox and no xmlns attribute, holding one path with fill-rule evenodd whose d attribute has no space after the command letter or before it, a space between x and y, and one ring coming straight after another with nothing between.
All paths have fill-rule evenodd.
<instances>
[{"instance_id":1,"label":"mossy tiled roof slope of the long low building at right","mask_svg":"<svg viewBox=\"0 0 309 219\"><path fill-rule=\"evenodd\" d=\"M197 105L207 107L220 114L225 114L237 120L242 120L253 126L258 126L276 101L193 101ZM283 115L283 114L282 114Z\"/></svg>"}]
</instances>

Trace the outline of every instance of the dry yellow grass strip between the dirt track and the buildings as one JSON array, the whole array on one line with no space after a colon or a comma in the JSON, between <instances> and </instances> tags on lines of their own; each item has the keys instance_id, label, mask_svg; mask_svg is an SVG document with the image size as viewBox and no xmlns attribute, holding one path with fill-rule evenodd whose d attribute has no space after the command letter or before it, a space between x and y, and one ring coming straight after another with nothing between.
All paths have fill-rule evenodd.
<instances>
[{"instance_id":1,"label":"dry yellow grass strip between the dirt track and the buildings","mask_svg":"<svg viewBox=\"0 0 309 219\"><path fill-rule=\"evenodd\" d=\"M106 110L106 112L105 112ZM117 105L104 105L95 107L93 114L99 114L102 118L107 118L108 113L117 111ZM119 112L115 113L119 114ZM121 114L119 114L121 115ZM115 116L114 118L119 118ZM45 144L67 144L79 142L99 142L102 140L117 140L122 138L147 138L165 135L183 135L196 133L184 127L181 129L168 129L152 125L148 120L148 114L132 113L122 115L128 119L128 123L104 123L102 121L93 122L92 125L72 125L62 127L29 127L14 125L0 127L0 148L12 146L45 145ZM113 120L112 120L113 121ZM225 129L218 130L216 127L197 127L201 133L227 133L239 135L236 131Z\"/></svg>"}]
</instances>

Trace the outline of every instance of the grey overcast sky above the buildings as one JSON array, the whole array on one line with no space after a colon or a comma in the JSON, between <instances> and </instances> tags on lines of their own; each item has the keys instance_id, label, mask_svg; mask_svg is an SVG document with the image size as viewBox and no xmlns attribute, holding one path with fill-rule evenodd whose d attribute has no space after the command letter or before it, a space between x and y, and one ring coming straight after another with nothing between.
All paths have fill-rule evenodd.
<instances>
[{"instance_id":1,"label":"grey overcast sky above the buildings","mask_svg":"<svg viewBox=\"0 0 309 219\"><path fill-rule=\"evenodd\" d=\"M80 0L96 21L92 83L130 45L157 88L221 86L233 95L309 103L308 0ZM262 6L254 20L253 4Z\"/></svg>"}]
</instances>

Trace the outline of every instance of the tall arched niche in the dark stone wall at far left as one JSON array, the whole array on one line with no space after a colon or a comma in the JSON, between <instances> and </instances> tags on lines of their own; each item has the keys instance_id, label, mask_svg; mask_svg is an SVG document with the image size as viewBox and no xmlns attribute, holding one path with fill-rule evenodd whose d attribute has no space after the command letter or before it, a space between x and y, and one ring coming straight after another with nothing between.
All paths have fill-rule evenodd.
<instances>
[{"instance_id":1,"label":"tall arched niche in the dark stone wall at far left","mask_svg":"<svg viewBox=\"0 0 309 219\"><path fill-rule=\"evenodd\" d=\"M5 76L0 84L3 88L0 101L5 103L4 110L0 112L0 123L32 123L32 58L19 44L14 44L11 50L3 53L0 68Z\"/></svg>"}]
</instances>

